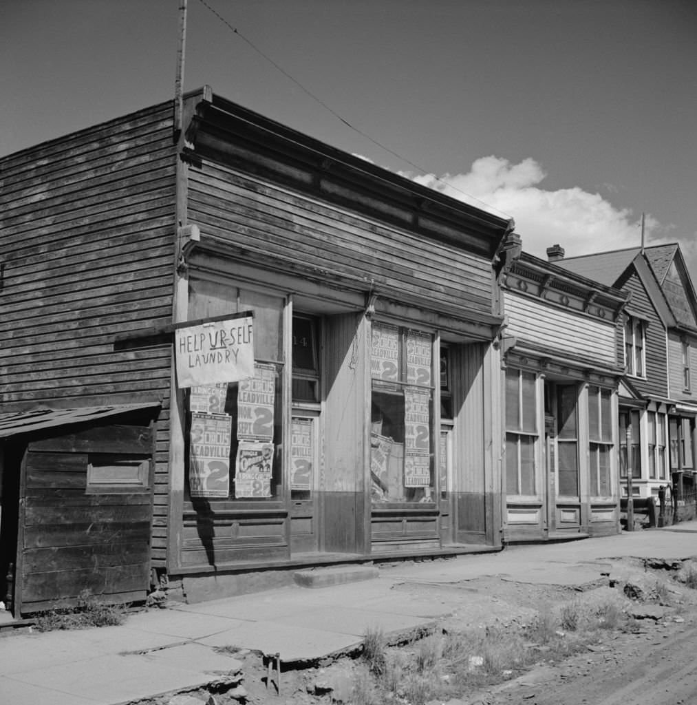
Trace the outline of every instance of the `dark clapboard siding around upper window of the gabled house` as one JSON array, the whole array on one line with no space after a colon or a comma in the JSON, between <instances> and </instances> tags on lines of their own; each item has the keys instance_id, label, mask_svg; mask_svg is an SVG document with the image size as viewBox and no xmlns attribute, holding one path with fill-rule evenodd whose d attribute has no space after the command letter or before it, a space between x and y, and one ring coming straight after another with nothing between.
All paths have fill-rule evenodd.
<instances>
[{"instance_id":1,"label":"dark clapboard siding around upper window of the gabled house","mask_svg":"<svg viewBox=\"0 0 697 705\"><path fill-rule=\"evenodd\" d=\"M634 267L629 269L624 280L617 285L626 291L631 291L629 313L634 312L648 321L646 326L646 377L629 377L631 384L641 394L668 396L668 365L665 343L665 326L658 312L651 303L646 288L641 283Z\"/></svg>"}]
</instances>

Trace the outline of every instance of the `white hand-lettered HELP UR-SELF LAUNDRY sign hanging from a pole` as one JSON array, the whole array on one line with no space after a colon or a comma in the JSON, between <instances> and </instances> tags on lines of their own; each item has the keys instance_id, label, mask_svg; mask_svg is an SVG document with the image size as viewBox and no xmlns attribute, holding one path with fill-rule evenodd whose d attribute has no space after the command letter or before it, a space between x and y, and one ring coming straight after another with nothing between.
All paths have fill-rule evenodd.
<instances>
[{"instance_id":1,"label":"white hand-lettered HELP UR-SELF LAUNDRY sign hanging from a pole","mask_svg":"<svg viewBox=\"0 0 697 705\"><path fill-rule=\"evenodd\" d=\"M180 388L236 382L254 374L252 317L186 326L175 331Z\"/></svg>"}]
</instances>

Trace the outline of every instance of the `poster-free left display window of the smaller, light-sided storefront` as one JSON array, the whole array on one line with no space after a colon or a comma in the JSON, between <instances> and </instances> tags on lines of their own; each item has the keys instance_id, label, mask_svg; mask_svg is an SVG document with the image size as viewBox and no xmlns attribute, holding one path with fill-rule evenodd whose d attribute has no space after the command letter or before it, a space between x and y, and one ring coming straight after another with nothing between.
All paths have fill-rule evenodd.
<instances>
[{"instance_id":1,"label":"poster-free left display window of the smaller, light-sided storefront","mask_svg":"<svg viewBox=\"0 0 697 705\"><path fill-rule=\"evenodd\" d=\"M535 375L506 371L506 492L534 495L537 441Z\"/></svg>"}]
</instances>

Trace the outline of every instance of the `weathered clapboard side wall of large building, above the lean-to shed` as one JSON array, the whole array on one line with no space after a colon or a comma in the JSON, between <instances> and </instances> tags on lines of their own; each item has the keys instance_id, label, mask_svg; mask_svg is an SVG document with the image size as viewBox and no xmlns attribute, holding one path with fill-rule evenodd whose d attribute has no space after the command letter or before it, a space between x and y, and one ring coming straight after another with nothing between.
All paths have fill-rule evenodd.
<instances>
[{"instance_id":1,"label":"weathered clapboard side wall of large building, above the lean-to shed","mask_svg":"<svg viewBox=\"0 0 697 705\"><path fill-rule=\"evenodd\" d=\"M164 560L171 345L114 348L171 321L172 104L0 160L0 395L6 410L163 398L154 558Z\"/></svg>"}]
</instances>

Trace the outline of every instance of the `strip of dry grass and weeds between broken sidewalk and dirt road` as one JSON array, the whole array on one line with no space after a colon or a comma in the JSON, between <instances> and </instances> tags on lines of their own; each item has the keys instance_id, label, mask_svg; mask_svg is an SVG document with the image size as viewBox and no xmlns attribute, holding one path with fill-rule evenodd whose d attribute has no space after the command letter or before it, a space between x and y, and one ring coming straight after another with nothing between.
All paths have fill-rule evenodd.
<instances>
[{"instance_id":1,"label":"strip of dry grass and weeds between broken sidewalk and dirt road","mask_svg":"<svg viewBox=\"0 0 697 705\"><path fill-rule=\"evenodd\" d=\"M616 592L600 591L538 613L524 627L434 634L401 649L388 649L382 632L370 630L352 704L448 701L514 678L534 663L560 661L597 643L605 630L629 629L625 603Z\"/></svg>"}]
</instances>

